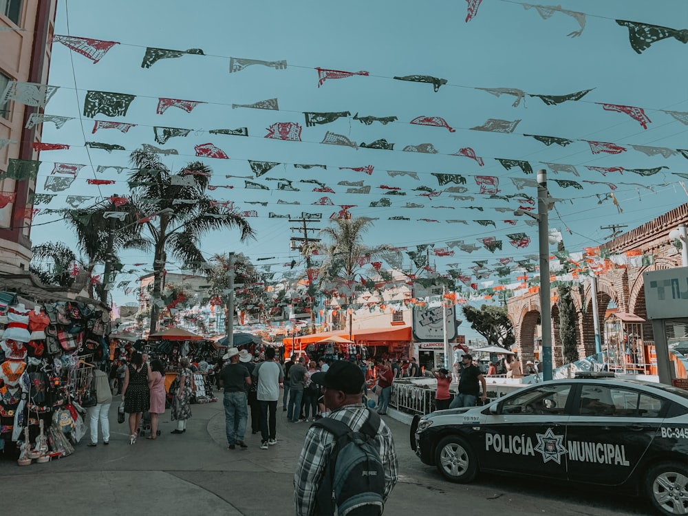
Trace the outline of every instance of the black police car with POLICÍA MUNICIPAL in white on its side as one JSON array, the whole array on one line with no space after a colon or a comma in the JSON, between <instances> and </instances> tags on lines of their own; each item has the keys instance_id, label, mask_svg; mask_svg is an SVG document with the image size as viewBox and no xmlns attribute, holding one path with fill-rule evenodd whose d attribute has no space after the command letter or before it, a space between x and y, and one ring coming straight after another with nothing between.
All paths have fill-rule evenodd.
<instances>
[{"instance_id":1,"label":"black police car with POLIC\u00cdA MUNICIPAL in white on its side","mask_svg":"<svg viewBox=\"0 0 688 516\"><path fill-rule=\"evenodd\" d=\"M479 471L614 487L688 514L688 391L616 378L552 380L483 407L416 416L411 448L451 482Z\"/></svg>"}]
</instances>

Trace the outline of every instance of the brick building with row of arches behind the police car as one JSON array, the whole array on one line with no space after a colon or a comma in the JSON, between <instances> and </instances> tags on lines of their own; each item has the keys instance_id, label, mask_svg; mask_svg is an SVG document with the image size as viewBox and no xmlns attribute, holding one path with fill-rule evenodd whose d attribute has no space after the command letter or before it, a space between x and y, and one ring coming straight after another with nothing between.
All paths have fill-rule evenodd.
<instances>
[{"instance_id":1,"label":"brick building with row of arches behind the police car","mask_svg":"<svg viewBox=\"0 0 688 516\"><path fill-rule=\"evenodd\" d=\"M688 224L688 203L682 204L656 219L638 226L623 235L600 246L612 254L623 254L627 250L641 250L643 255L654 255L652 266L625 266L614 268L597 277L596 299L599 314L599 332L604 342L604 317L610 304L619 312L629 312L647 321L643 272L647 270L668 269L681 266L680 251L669 239L669 231L678 224ZM552 298L558 292L552 288ZM594 323L592 316L591 282L583 279L579 288L572 288L572 297L577 312L577 342L579 357L590 356L595 352ZM514 327L519 360L533 360L537 339L537 325L540 317L539 293L513 297L507 302L508 317ZM552 365L563 365L563 352L559 336L559 306L550 300L552 314ZM643 324L645 341L653 341L652 323Z\"/></svg>"}]
</instances>

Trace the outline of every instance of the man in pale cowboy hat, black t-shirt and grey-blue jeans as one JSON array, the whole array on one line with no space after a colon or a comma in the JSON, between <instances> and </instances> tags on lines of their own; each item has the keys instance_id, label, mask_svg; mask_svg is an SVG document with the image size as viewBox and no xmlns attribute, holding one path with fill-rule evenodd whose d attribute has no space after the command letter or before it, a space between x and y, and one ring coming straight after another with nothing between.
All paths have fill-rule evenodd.
<instances>
[{"instance_id":1,"label":"man in pale cowboy hat, black t-shirt and grey-blue jeans","mask_svg":"<svg viewBox=\"0 0 688 516\"><path fill-rule=\"evenodd\" d=\"M224 388L224 417L228 449L233 450L239 444L248 448L244 442L246 433L246 384L251 385L248 369L239 363L239 350L230 347L222 360L229 361L219 374L219 386Z\"/></svg>"}]
</instances>

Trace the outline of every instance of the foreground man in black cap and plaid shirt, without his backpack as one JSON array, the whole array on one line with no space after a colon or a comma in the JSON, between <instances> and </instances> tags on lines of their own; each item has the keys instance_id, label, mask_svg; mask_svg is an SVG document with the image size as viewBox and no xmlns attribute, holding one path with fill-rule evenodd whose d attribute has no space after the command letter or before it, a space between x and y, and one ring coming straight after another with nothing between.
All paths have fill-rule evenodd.
<instances>
[{"instance_id":1,"label":"foreground man in black cap and plaid shirt, without his backpack","mask_svg":"<svg viewBox=\"0 0 688 516\"><path fill-rule=\"evenodd\" d=\"M315 373L311 379L322 387L325 407L330 410L328 417L340 420L353 431L358 431L367 421L369 414L361 399L365 383L361 368L354 363L338 361L330 365L327 372ZM391 430L381 419L374 441L379 448L380 459L385 469L386 502L398 480L398 460ZM294 473L294 504L297 516L314 515L316 494L333 447L332 433L318 427L308 429Z\"/></svg>"}]
</instances>

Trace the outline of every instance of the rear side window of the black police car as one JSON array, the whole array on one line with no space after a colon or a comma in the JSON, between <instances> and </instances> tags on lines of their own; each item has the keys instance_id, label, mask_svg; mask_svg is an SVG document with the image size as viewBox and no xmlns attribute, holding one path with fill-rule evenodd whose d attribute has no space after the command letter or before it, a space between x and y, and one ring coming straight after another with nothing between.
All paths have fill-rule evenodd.
<instances>
[{"instance_id":1,"label":"rear side window of the black police car","mask_svg":"<svg viewBox=\"0 0 688 516\"><path fill-rule=\"evenodd\" d=\"M665 400L623 387L583 385L581 416L612 416L616 418L658 418Z\"/></svg>"}]
</instances>

